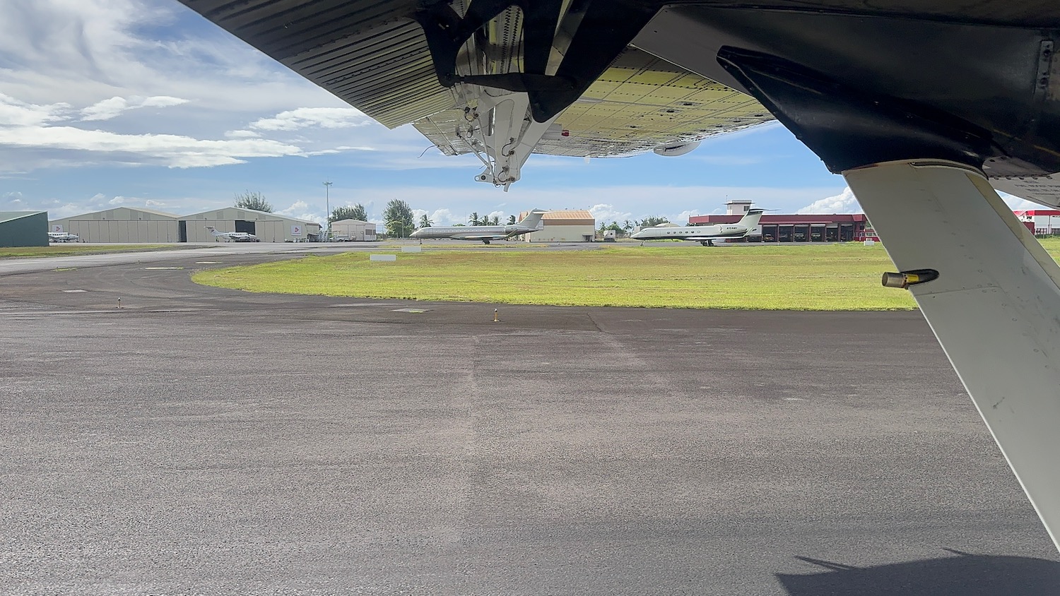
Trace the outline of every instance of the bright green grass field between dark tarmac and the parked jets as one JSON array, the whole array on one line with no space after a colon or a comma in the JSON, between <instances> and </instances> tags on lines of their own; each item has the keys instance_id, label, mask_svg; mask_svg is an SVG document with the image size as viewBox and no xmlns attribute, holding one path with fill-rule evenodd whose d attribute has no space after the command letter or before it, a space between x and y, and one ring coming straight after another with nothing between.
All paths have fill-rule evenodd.
<instances>
[{"instance_id":1,"label":"bright green grass field between dark tarmac and the parked jets","mask_svg":"<svg viewBox=\"0 0 1060 596\"><path fill-rule=\"evenodd\" d=\"M1060 239L1043 241L1056 258ZM628 246L599 250L365 253L196 272L198 284L251 292L556 306L749 310L912 310L882 246Z\"/></svg>"}]
</instances>

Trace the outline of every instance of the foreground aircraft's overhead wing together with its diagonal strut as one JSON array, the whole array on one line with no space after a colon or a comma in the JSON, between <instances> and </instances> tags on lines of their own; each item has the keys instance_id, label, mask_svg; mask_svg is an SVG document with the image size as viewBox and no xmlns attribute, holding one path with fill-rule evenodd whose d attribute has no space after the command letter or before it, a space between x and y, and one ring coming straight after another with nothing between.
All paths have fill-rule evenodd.
<instances>
[{"instance_id":1,"label":"foreground aircraft's overhead wing together with its diagonal strut","mask_svg":"<svg viewBox=\"0 0 1060 596\"><path fill-rule=\"evenodd\" d=\"M1060 267L991 187L1060 206L1056 0L180 1L506 189L531 152L779 120L846 178L1060 539Z\"/></svg>"}]
</instances>

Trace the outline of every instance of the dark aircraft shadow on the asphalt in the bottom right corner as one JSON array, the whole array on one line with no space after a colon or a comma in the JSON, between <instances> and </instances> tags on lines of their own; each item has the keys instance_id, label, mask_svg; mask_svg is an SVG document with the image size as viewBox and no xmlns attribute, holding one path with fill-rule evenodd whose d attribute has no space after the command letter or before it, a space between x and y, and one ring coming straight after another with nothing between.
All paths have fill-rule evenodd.
<instances>
[{"instance_id":1,"label":"dark aircraft shadow on the asphalt in the bottom right corner","mask_svg":"<svg viewBox=\"0 0 1060 596\"><path fill-rule=\"evenodd\" d=\"M1030 557L970 555L854 567L796 557L829 570L777 574L791 596L1021 596L1060 594L1060 563Z\"/></svg>"}]
</instances>

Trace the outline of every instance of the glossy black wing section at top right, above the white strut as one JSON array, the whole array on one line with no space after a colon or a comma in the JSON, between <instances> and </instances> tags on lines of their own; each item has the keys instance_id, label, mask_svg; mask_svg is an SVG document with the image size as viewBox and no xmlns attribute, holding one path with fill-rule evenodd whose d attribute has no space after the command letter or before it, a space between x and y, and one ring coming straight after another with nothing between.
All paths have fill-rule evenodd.
<instances>
[{"instance_id":1,"label":"glossy black wing section at top right, above the white strut","mask_svg":"<svg viewBox=\"0 0 1060 596\"><path fill-rule=\"evenodd\" d=\"M1060 171L1058 42L1057 3L838 0L674 5L634 40L756 96L833 170L919 151L993 178Z\"/></svg>"}]
</instances>

